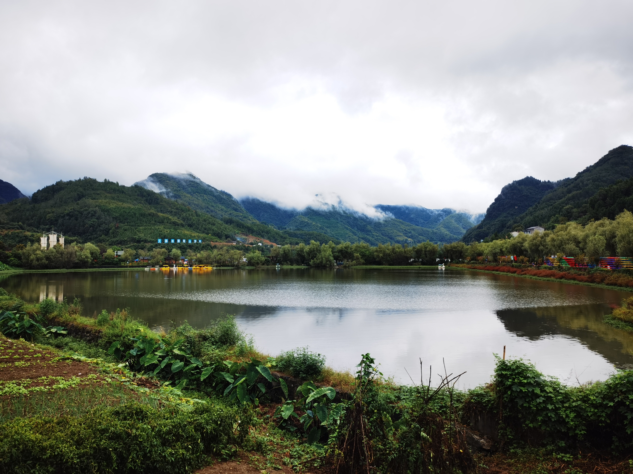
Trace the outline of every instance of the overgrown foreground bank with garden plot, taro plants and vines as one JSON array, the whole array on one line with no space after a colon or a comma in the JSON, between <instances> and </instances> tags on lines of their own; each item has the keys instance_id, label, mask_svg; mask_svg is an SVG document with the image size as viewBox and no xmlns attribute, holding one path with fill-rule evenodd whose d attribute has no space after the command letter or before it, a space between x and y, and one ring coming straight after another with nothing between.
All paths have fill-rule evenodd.
<instances>
[{"instance_id":1,"label":"overgrown foreground bank with garden plot, taro plants and vines","mask_svg":"<svg viewBox=\"0 0 633 474\"><path fill-rule=\"evenodd\" d=\"M369 354L356 374L308 348L261 354L231 317L152 332L125 310L86 316L80 301L2 293L0 308L18 323L0 321L2 471L191 473L244 453L261 471L632 472L633 372L567 387L498 359L469 391L452 376L397 386ZM484 433L470 428L478 417Z\"/></svg>"}]
</instances>

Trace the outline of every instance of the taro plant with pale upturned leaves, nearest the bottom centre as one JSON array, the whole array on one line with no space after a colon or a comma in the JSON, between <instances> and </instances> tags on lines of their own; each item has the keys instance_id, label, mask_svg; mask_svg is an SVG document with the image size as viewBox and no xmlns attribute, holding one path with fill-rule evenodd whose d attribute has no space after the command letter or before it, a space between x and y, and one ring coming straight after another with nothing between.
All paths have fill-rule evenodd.
<instances>
[{"instance_id":1,"label":"taro plant with pale upturned leaves, nearest the bottom centre","mask_svg":"<svg viewBox=\"0 0 633 474\"><path fill-rule=\"evenodd\" d=\"M287 394L286 394L287 395ZM344 410L344 403L332 403L336 391L332 387L316 387L313 382L304 382L298 387L298 400L287 400L277 407L273 418L282 418L279 426L294 431L291 417L297 418L308 437L308 443L313 444L328 434L330 427L338 423ZM299 416L296 411L303 411Z\"/></svg>"}]
</instances>

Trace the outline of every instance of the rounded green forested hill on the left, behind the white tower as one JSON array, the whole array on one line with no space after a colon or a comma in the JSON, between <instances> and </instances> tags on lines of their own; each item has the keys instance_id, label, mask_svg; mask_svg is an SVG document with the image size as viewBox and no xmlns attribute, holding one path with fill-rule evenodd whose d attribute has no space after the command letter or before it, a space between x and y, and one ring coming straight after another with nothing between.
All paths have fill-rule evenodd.
<instances>
[{"instance_id":1,"label":"rounded green forested hill on the left, behind the white tower","mask_svg":"<svg viewBox=\"0 0 633 474\"><path fill-rule=\"evenodd\" d=\"M113 245L155 243L158 238L225 241L237 232L255 230L248 222L220 221L142 186L92 178L58 181L35 192L30 200L0 205L0 222L20 222L39 231L54 227L83 241ZM287 233L256 226L265 231L261 237L294 242Z\"/></svg>"}]
</instances>

